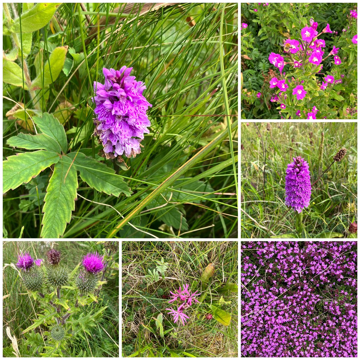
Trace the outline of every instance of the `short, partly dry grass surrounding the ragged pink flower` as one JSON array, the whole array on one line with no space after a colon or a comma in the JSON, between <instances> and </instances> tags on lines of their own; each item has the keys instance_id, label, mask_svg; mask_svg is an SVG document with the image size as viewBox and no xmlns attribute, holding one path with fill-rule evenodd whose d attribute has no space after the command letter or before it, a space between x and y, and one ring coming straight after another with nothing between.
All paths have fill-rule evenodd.
<instances>
[{"instance_id":1,"label":"short, partly dry grass surrounding the ragged pink flower","mask_svg":"<svg viewBox=\"0 0 360 360\"><path fill-rule=\"evenodd\" d=\"M149 270L154 271L161 258L168 263L165 276L158 281L149 279ZM165 310L174 304L167 302L169 291L174 292L180 285L183 288L185 283L192 292L201 291L200 278L210 263L215 265L215 273L210 278L210 298L206 298L206 303L211 300L215 305L222 295L228 303L223 303L221 309L231 314L230 324L224 326L215 318L204 319L207 312L211 313L204 303L185 312L190 316L185 326L174 324ZM238 291L221 292L225 284L238 284L237 241L123 241L122 356L237 357ZM195 310L199 311L198 317ZM159 312L163 314L164 338L153 320ZM154 333L146 327L153 328Z\"/></svg>"}]
</instances>

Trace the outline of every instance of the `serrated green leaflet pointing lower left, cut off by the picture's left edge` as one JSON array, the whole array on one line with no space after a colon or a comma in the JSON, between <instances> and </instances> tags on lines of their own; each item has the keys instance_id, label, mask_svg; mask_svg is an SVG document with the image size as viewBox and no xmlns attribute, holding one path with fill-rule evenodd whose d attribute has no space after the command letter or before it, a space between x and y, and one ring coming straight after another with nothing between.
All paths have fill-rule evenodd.
<instances>
[{"instance_id":1,"label":"serrated green leaflet pointing lower left, cut off by the picture's left edge","mask_svg":"<svg viewBox=\"0 0 360 360\"><path fill-rule=\"evenodd\" d=\"M3 193L28 183L33 177L59 161L58 154L39 150L12 155L3 161Z\"/></svg>"}]
</instances>

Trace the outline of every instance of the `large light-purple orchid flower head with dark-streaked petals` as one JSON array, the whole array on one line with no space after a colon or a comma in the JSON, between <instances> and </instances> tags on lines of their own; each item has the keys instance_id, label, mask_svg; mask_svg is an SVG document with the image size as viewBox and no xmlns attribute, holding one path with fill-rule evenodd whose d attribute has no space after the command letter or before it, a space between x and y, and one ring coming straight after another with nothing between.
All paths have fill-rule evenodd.
<instances>
[{"instance_id":1,"label":"large light-purple orchid flower head with dark-streaked petals","mask_svg":"<svg viewBox=\"0 0 360 360\"><path fill-rule=\"evenodd\" d=\"M146 114L152 105L143 96L142 81L130 76L131 68L120 70L103 68L105 83L94 81L94 135L99 135L107 159L125 153L130 158L140 154L140 142L149 134L150 121Z\"/></svg>"}]
</instances>

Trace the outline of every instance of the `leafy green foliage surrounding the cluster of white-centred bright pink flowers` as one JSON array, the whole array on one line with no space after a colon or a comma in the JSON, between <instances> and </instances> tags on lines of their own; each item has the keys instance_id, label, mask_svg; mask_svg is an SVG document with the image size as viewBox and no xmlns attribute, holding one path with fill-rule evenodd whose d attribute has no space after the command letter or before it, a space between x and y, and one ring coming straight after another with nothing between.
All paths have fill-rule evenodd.
<instances>
[{"instance_id":1,"label":"leafy green foliage surrounding the cluster of white-centred bright pink flowers","mask_svg":"<svg viewBox=\"0 0 360 360\"><path fill-rule=\"evenodd\" d=\"M241 22L248 24L247 28L241 30L243 119L279 119L282 116L276 109L279 105L270 102L278 89L270 89L269 80L279 76L279 70L269 62L269 54L284 55L283 40L298 40L301 29L309 26L310 18L318 22L319 32L327 23L333 31L321 35L321 39L326 42L324 57L335 45L339 48L337 55L342 60L340 65L334 65L332 58L324 60L321 73L331 73L336 79L341 74L345 75L342 84L336 87L334 96L327 99L319 91L320 96L315 98L314 95L313 104L310 105L323 109L324 113L326 111L328 119L356 118L356 114L352 116L346 112L346 108L356 108L357 105L357 46L351 41L357 34L357 26L356 19L349 13L356 8L356 4L332 3L324 6L323 3L269 3L268 6L262 6L243 3L241 6ZM255 8L257 12L253 10ZM349 29L350 23L352 25ZM343 29L346 31L343 32ZM292 70L292 66L285 65L284 72L290 74ZM261 92L261 98L257 98L258 92Z\"/></svg>"}]
</instances>

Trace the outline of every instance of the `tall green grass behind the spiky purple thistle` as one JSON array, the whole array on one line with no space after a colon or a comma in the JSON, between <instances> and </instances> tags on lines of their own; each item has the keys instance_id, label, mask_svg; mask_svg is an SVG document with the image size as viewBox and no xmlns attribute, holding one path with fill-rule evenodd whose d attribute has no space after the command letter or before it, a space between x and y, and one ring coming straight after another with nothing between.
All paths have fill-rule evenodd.
<instances>
[{"instance_id":1,"label":"tall green grass behind the spiky purple thistle","mask_svg":"<svg viewBox=\"0 0 360 360\"><path fill-rule=\"evenodd\" d=\"M45 253L53 246L60 250L62 262L66 263L71 270L81 261L83 255L88 252L98 251L102 254L102 244L95 241L9 241L3 243L3 265L16 264L17 254L30 252L33 258L45 258ZM114 254L114 260L119 261L118 252ZM110 264L110 263L109 263ZM79 333L68 342L66 353L68 357L118 357L119 356L119 274L118 269L107 267L105 271L104 284L100 290L98 303L92 303L87 308L96 312L103 306L108 306L103 313L101 320L95 321L95 327L89 328L90 334L80 330ZM35 328L38 344L29 348L25 344L33 332L22 334L22 331L29 327L36 314L41 308L38 303L29 296L21 283L18 272L8 266L3 270L3 356L15 357L12 354L13 348L9 337L6 334L6 327L10 327L11 335L17 338L21 357L41 357L39 354L45 352L44 331L48 327ZM86 309L86 308L85 308ZM86 314L86 310L84 311ZM70 318L71 319L71 318ZM79 327L80 329L80 327ZM32 337L33 339L33 337Z\"/></svg>"}]
</instances>

